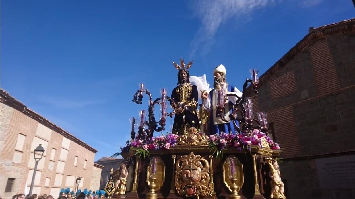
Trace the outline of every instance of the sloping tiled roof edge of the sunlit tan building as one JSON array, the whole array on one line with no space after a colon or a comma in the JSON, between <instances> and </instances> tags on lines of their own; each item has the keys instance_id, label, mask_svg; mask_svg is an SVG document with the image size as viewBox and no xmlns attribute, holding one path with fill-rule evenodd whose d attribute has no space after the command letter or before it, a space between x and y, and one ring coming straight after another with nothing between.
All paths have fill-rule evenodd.
<instances>
[{"instance_id":1,"label":"sloping tiled roof edge of the sunlit tan building","mask_svg":"<svg viewBox=\"0 0 355 199\"><path fill-rule=\"evenodd\" d=\"M49 129L61 134L62 136L68 138L69 140L76 142L79 145L87 148L88 150L90 150L94 153L97 152L96 149L92 148L87 143L81 141L79 138L73 136L71 133L65 131L61 127L55 125L53 122L45 119L43 116L39 115L37 112L34 112L33 110L29 109L26 105L24 105L22 102L18 101L14 97L12 97L4 89L1 89L0 99L1 99L1 103L11 106L12 108L22 112L23 114L27 115L28 117L31 117L32 119L38 121L40 124L47 126Z\"/></svg>"}]
</instances>

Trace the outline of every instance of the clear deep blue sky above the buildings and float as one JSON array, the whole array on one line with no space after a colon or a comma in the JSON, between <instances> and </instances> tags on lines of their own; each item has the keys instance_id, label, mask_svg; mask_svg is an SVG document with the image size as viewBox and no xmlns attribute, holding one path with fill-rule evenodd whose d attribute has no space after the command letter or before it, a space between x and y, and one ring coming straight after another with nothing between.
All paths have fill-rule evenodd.
<instances>
[{"instance_id":1,"label":"clear deep blue sky above the buildings and float","mask_svg":"<svg viewBox=\"0 0 355 199\"><path fill-rule=\"evenodd\" d=\"M219 64L241 88L265 72L310 26L354 17L351 0L1 1L1 88L96 148L95 159L130 137L138 83L153 93ZM158 109L158 106L156 107ZM156 113L158 114L158 113ZM168 121L168 129L170 126Z\"/></svg>"}]
</instances>

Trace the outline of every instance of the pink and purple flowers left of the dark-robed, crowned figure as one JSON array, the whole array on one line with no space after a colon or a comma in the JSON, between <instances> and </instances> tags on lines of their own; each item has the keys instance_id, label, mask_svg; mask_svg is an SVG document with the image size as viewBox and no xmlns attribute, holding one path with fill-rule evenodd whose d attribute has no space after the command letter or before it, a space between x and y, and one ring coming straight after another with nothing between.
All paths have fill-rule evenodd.
<instances>
[{"instance_id":1,"label":"pink and purple flowers left of the dark-robed, crowned figure","mask_svg":"<svg viewBox=\"0 0 355 199\"><path fill-rule=\"evenodd\" d=\"M142 135L140 137L136 136L135 140L126 142L126 150L129 148L134 148L135 155L139 155L142 158L149 156L149 151L164 149L168 150L170 147L174 147L178 143L179 136L174 133L169 133L164 136L157 136L149 138L147 135ZM122 148L121 150L124 150Z\"/></svg>"}]
</instances>

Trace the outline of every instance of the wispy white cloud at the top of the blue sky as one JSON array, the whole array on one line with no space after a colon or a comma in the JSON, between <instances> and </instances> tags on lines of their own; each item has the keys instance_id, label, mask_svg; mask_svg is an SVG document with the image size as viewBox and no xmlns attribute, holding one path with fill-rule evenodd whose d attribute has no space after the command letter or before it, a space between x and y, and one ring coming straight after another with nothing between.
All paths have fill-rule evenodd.
<instances>
[{"instance_id":1,"label":"wispy white cloud at the top of the blue sky","mask_svg":"<svg viewBox=\"0 0 355 199\"><path fill-rule=\"evenodd\" d=\"M272 4L274 0L206 0L192 1L191 9L201 20L201 27L190 44L190 56L198 49L207 53L213 37L222 23L230 19L248 16L253 10Z\"/></svg>"}]
</instances>

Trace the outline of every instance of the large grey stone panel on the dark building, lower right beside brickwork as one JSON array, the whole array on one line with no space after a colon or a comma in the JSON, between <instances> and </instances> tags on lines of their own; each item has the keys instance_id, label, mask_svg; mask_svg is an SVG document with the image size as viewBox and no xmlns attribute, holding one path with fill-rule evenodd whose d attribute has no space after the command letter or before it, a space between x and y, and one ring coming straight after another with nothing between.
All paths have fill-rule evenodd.
<instances>
[{"instance_id":1,"label":"large grey stone panel on the dark building, lower right beside brickwork","mask_svg":"<svg viewBox=\"0 0 355 199\"><path fill-rule=\"evenodd\" d=\"M355 89L293 105L301 156L355 150Z\"/></svg>"}]
</instances>

